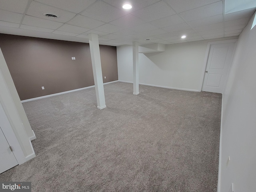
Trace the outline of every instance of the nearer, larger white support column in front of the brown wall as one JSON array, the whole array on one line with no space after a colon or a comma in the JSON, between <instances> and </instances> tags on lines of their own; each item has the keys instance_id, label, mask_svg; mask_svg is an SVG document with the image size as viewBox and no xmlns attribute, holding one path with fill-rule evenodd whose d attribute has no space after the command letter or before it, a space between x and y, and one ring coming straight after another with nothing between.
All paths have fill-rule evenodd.
<instances>
[{"instance_id":1,"label":"nearer, larger white support column in front of the brown wall","mask_svg":"<svg viewBox=\"0 0 256 192\"><path fill-rule=\"evenodd\" d=\"M100 46L97 34L89 34L89 44L92 58L92 71L96 90L97 108L106 108L103 78L100 61Z\"/></svg>"}]
</instances>

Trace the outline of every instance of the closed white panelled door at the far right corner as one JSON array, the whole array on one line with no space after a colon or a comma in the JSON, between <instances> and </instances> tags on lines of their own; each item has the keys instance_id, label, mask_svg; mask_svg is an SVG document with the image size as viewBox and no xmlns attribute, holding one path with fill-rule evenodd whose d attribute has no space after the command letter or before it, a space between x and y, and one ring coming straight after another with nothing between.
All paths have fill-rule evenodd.
<instances>
[{"instance_id":1,"label":"closed white panelled door at the far right corner","mask_svg":"<svg viewBox=\"0 0 256 192\"><path fill-rule=\"evenodd\" d=\"M212 44L207 60L203 91L223 93L233 58L235 42Z\"/></svg>"}]
</instances>

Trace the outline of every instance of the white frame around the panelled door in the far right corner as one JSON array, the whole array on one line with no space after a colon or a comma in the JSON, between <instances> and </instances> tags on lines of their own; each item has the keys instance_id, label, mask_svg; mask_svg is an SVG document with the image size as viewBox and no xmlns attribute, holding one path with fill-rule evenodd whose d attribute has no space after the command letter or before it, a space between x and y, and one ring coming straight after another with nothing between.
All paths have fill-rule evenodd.
<instances>
[{"instance_id":1,"label":"white frame around the panelled door in the far right corner","mask_svg":"<svg viewBox=\"0 0 256 192\"><path fill-rule=\"evenodd\" d=\"M204 65L203 65L202 74L201 74L201 78L200 78L200 84L199 84L199 88L198 88L199 92L202 91L202 89L203 89L204 78L205 78L205 70L206 70L206 67L207 67L207 62L208 62L211 46L216 45L216 44L235 43L235 48L234 48L234 52L235 52L237 40L238 39L229 39L229 40L213 41L213 42L208 42L207 43L206 53L205 53L205 56L204 56ZM234 56L234 52L233 52L233 56ZM232 56L232 60L233 60L233 56ZM231 63L232 63L232 61L231 61ZM229 66L228 72L230 70L230 66Z\"/></svg>"}]
</instances>

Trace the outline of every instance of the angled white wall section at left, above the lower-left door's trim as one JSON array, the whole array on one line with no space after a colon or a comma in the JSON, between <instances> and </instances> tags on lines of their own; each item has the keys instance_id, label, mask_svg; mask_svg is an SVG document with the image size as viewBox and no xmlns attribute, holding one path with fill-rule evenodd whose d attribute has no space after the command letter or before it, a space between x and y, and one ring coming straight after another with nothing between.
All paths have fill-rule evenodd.
<instances>
[{"instance_id":1,"label":"angled white wall section at left, above the lower-left door's trim","mask_svg":"<svg viewBox=\"0 0 256 192\"><path fill-rule=\"evenodd\" d=\"M26 132L22 119L26 117L17 90L14 86L14 82L4 60L4 56L0 49L0 102L4 109L4 112L12 126L12 130L16 135L16 138L20 144L20 147L24 153L26 160L35 156L34 150L30 141L30 138ZM22 113L22 110L24 114ZM27 117L26 117L27 118ZM24 120L24 119L23 119ZM28 120L26 119L28 122ZM29 124L29 123L28 123ZM32 129L29 125L27 129ZM24 161L26 161L24 160Z\"/></svg>"}]
</instances>

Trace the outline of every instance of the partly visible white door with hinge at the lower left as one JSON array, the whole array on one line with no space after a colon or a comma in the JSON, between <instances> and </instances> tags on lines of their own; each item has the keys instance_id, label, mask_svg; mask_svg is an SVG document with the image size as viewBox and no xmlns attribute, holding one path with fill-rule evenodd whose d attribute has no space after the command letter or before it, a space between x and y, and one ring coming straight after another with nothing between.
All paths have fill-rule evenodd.
<instances>
[{"instance_id":1,"label":"partly visible white door with hinge at the lower left","mask_svg":"<svg viewBox=\"0 0 256 192\"><path fill-rule=\"evenodd\" d=\"M0 128L0 173L16 165L18 165L18 162Z\"/></svg>"}]
</instances>

